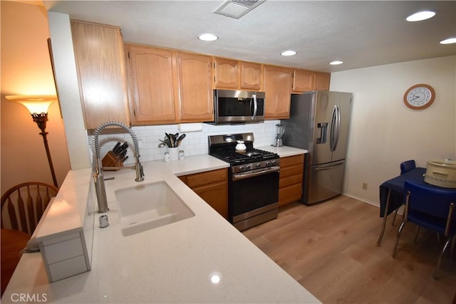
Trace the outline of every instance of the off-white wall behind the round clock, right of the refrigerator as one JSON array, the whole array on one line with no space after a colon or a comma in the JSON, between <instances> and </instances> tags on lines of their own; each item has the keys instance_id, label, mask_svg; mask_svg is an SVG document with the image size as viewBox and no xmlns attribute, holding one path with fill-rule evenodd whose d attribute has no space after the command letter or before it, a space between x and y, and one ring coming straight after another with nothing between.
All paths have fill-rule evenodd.
<instances>
[{"instance_id":1,"label":"off-white wall behind the round clock, right of the refrigerator","mask_svg":"<svg viewBox=\"0 0 456 304\"><path fill-rule=\"evenodd\" d=\"M378 204L379 186L400 174L400 162L456 159L456 56L331 74L331 90L354 93L344 192ZM435 101L425 110L403 103L410 86L426 83ZM361 189L363 182L368 189Z\"/></svg>"}]
</instances>

